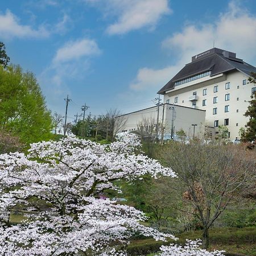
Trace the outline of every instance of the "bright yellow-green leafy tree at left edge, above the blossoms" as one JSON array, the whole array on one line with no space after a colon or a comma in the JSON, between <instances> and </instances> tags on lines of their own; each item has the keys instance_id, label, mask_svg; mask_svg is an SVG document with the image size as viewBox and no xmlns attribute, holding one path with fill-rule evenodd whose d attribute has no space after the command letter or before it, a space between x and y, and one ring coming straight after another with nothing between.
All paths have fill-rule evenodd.
<instances>
[{"instance_id":1,"label":"bright yellow-green leafy tree at left edge, above the blossoms","mask_svg":"<svg viewBox=\"0 0 256 256\"><path fill-rule=\"evenodd\" d=\"M33 73L0 67L0 127L23 143L51 138L52 118Z\"/></svg>"}]
</instances>

